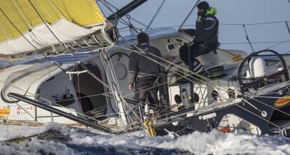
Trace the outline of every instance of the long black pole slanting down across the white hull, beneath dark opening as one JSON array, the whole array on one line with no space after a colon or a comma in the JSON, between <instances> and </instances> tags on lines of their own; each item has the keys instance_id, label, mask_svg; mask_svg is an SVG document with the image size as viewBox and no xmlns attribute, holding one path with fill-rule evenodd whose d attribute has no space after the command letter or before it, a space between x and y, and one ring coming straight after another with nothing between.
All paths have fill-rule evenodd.
<instances>
[{"instance_id":1,"label":"long black pole slanting down across the white hull, beneath dark opening","mask_svg":"<svg viewBox=\"0 0 290 155\"><path fill-rule=\"evenodd\" d=\"M112 131L110 128L106 128L106 127L101 126L101 125L99 125L99 124L97 124L95 122L88 121L86 119L83 119L81 117L77 117L75 115L71 115L71 114L69 114L67 112L64 112L62 110L58 110L57 108L53 108L53 107L51 107L49 105L40 103L39 101L34 101L33 99L27 98L27 97L25 97L23 95L16 94L16 93L9 93L8 96L11 97L11 98L15 98L15 99L17 99L19 101L23 101L25 103L28 103L30 105L34 105L34 106L36 106L38 108L41 108L43 110L47 110L48 112L53 112L56 115L60 115L60 116L65 117L67 119L71 119L72 121L76 121L76 122L78 122L80 124L83 124L85 126L89 126L91 128L95 128L98 131L103 131L105 133L120 134L120 133L118 133L116 131Z\"/></svg>"}]
</instances>

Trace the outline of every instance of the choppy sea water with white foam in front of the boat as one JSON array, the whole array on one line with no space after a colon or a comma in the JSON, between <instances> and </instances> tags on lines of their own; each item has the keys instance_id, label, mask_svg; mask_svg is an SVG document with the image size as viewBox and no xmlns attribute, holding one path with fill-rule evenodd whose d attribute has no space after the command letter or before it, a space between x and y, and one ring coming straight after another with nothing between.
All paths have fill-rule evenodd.
<instances>
[{"instance_id":1,"label":"choppy sea water with white foam in front of the boat","mask_svg":"<svg viewBox=\"0 0 290 155\"><path fill-rule=\"evenodd\" d=\"M0 154L290 154L290 138L194 132L178 138L104 135L50 123L0 126Z\"/></svg>"}]
</instances>

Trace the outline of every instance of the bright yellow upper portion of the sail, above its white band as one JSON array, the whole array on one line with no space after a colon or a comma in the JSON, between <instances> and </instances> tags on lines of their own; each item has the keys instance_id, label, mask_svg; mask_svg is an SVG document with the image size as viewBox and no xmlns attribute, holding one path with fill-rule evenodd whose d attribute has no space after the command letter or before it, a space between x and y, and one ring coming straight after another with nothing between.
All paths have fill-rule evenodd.
<instances>
[{"instance_id":1,"label":"bright yellow upper portion of the sail, above its white band","mask_svg":"<svg viewBox=\"0 0 290 155\"><path fill-rule=\"evenodd\" d=\"M5 13L0 13L0 41L20 36L15 27L24 34L41 24L41 17L49 24L63 17L82 27L102 24L105 20L94 0L1 0L0 8Z\"/></svg>"}]
</instances>

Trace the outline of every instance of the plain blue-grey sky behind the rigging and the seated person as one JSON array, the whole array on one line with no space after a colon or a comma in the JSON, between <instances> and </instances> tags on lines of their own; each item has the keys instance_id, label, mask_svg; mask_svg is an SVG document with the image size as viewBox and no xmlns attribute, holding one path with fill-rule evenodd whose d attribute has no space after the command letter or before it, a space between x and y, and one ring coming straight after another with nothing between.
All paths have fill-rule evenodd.
<instances>
[{"instance_id":1,"label":"plain blue-grey sky behind the rigging and the seated person","mask_svg":"<svg viewBox=\"0 0 290 155\"><path fill-rule=\"evenodd\" d=\"M121 8L131 0L106 0L117 8ZM149 24L154 13L163 0L149 0L142 6L132 11L130 15L144 24ZM156 17L151 27L173 27L177 29L185 19L197 0L166 0L163 8ZM219 27L219 42L221 48L244 50L251 52L249 44L244 34L242 25L225 24L250 24L262 22L281 22L275 24L255 24L246 25L249 39L254 42L254 50L263 50L278 43L257 43L257 42L279 42L284 41L275 47L280 53L290 51L290 34L286 29L285 21L289 21L290 26L290 3L288 0L209 0L211 6L218 10L216 15L221 23ZM110 11L100 5L104 14L109 15ZM196 10L186 24L195 24ZM144 27L137 22L132 22L135 27ZM118 25L124 27L123 24ZM191 26L193 27L193 26ZM123 35L128 31L121 31ZM285 42L287 41L287 42ZM237 44L228 44L237 43Z\"/></svg>"}]
</instances>

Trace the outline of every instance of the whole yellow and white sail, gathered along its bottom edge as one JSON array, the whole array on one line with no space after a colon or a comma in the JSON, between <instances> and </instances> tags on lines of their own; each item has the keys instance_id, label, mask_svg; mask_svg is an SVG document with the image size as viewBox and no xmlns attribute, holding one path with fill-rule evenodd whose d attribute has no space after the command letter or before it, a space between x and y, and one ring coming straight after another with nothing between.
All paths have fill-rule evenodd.
<instances>
[{"instance_id":1,"label":"whole yellow and white sail, gathered along its bottom edge","mask_svg":"<svg viewBox=\"0 0 290 155\"><path fill-rule=\"evenodd\" d=\"M94 0L1 0L0 9L0 56L111 41Z\"/></svg>"}]
</instances>

